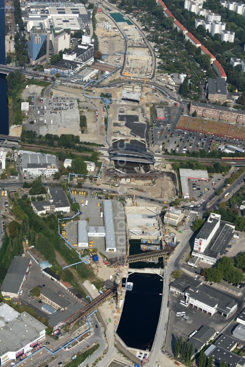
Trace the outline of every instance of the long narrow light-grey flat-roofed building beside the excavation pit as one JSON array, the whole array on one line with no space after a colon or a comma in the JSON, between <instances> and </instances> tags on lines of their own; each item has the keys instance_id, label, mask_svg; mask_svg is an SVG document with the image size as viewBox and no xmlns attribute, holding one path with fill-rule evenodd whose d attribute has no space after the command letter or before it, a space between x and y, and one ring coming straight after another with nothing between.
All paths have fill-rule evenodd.
<instances>
[{"instance_id":1,"label":"long narrow light-grey flat-roofed building beside the excavation pit","mask_svg":"<svg viewBox=\"0 0 245 367\"><path fill-rule=\"evenodd\" d=\"M116 252L114 212L111 200L103 200L106 252Z\"/></svg>"}]
</instances>

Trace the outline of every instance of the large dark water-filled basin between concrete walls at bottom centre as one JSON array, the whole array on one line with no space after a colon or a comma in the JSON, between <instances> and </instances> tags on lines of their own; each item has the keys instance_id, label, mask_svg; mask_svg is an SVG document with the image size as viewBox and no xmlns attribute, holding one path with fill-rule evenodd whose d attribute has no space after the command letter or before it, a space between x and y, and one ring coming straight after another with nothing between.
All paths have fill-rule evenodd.
<instances>
[{"instance_id":1,"label":"large dark water-filled basin between concrete walls at bottom centre","mask_svg":"<svg viewBox=\"0 0 245 367\"><path fill-rule=\"evenodd\" d=\"M163 280L156 274L133 273L116 333L131 348L151 350L158 325Z\"/></svg>"}]
</instances>

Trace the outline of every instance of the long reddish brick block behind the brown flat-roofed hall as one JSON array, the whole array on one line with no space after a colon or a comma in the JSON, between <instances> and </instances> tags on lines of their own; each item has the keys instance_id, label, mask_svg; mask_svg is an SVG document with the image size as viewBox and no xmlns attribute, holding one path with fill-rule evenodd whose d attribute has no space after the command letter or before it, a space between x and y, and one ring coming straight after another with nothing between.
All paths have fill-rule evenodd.
<instances>
[{"instance_id":1,"label":"long reddish brick block behind the brown flat-roofed hall","mask_svg":"<svg viewBox=\"0 0 245 367\"><path fill-rule=\"evenodd\" d=\"M197 111L197 116L208 119L223 120L231 123L245 124L245 110L231 109L229 107L207 105L206 103L191 102L190 114Z\"/></svg>"}]
</instances>

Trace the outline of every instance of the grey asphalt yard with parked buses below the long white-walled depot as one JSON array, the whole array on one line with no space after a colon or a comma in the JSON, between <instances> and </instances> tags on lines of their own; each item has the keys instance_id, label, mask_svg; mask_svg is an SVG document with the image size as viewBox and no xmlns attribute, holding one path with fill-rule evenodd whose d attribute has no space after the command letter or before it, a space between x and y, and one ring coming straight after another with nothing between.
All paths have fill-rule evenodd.
<instances>
[{"instance_id":1,"label":"grey asphalt yard with parked buses below the long white-walled depot","mask_svg":"<svg viewBox=\"0 0 245 367\"><path fill-rule=\"evenodd\" d=\"M234 298L233 295L228 297ZM173 348L176 343L176 339L180 336L183 340L188 339L189 335L194 331L198 330L202 325L208 325L214 328L217 332L220 332L226 323L234 317L234 314L226 318L221 316L220 313L215 313L213 316L206 314L201 310L192 308L191 305L184 307L179 301L184 298L181 295L175 295L172 292L169 293L170 299L170 318L168 325L168 333L166 338L165 350L167 353L173 355ZM242 301L239 298L234 298L238 302L238 309L241 307ZM184 321L183 317L176 316L176 312L185 312L185 316L190 317L189 321Z\"/></svg>"}]
</instances>

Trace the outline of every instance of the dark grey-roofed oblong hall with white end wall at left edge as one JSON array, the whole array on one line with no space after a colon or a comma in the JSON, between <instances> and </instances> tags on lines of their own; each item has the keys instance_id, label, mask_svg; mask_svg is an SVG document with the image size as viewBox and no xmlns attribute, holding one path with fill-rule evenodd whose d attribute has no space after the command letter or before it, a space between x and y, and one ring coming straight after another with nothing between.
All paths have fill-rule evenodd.
<instances>
[{"instance_id":1,"label":"dark grey-roofed oblong hall with white end wall at left edge","mask_svg":"<svg viewBox=\"0 0 245 367\"><path fill-rule=\"evenodd\" d=\"M29 257L14 257L0 288L3 297L18 297L30 265L31 259Z\"/></svg>"}]
</instances>

